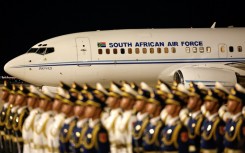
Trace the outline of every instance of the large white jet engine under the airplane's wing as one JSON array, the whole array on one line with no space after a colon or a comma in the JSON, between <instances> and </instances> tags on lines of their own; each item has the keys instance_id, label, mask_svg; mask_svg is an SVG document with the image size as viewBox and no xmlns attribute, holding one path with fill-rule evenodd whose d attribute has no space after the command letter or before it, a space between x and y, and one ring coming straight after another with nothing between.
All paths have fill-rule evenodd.
<instances>
[{"instance_id":1,"label":"large white jet engine under the airplane's wing","mask_svg":"<svg viewBox=\"0 0 245 153\"><path fill-rule=\"evenodd\" d=\"M174 81L189 87L191 81L202 82L207 87L214 87L219 81L226 87L232 87L237 83L238 76L234 71L211 67L187 67L174 73Z\"/></svg>"}]
</instances>

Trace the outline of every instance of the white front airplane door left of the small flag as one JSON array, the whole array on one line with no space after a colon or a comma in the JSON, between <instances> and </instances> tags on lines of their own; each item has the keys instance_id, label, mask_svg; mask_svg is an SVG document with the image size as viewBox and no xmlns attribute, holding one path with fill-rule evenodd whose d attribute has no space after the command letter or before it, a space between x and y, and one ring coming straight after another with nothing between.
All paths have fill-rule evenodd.
<instances>
[{"instance_id":1,"label":"white front airplane door left of the small flag","mask_svg":"<svg viewBox=\"0 0 245 153\"><path fill-rule=\"evenodd\" d=\"M88 38L76 38L77 45L77 63L78 66L90 66L88 61L91 61L91 49Z\"/></svg>"}]
</instances>

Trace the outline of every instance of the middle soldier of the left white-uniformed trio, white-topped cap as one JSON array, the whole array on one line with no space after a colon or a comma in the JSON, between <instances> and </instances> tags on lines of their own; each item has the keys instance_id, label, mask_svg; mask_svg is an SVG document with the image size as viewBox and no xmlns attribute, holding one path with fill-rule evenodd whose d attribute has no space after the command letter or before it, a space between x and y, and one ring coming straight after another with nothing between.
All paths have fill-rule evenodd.
<instances>
[{"instance_id":1,"label":"middle soldier of the left white-uniformed trio, white-topped cap","mask_svg":"<svg viewBox=\"0 0 245 153\"><path fill-rule=\"evenodd\" d=\"M47 87L42 88L40 95L40 113L34 119L33 149L34 153L43 153L47 146L46 124L53 117L52 104L54 94Z\"/></svg>"}]
</instances>

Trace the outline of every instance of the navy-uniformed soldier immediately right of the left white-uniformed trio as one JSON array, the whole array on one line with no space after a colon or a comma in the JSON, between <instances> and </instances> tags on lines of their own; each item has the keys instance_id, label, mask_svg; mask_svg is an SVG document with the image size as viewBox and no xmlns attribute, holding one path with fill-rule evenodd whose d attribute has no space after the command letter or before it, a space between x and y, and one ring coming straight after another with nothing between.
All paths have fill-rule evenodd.
<instances>
[{"instance_id":1,"label":"navy-uniformed soldier immediately right of the left white-uniformed trio","mask_svg":"<svg viewBox=\"0 0 245 153\"><path fill-rule=\"evenodd\" d=\"M59 134L59 151L60 153L71 152L70 138L72 134L72 129L76 125L77 118L74 116L74 104L77 98L72 96L71 93L66 94L66 97L63 98L61 112L65 114L64 124L61 127Z\"/></svg>"}]
</instances>

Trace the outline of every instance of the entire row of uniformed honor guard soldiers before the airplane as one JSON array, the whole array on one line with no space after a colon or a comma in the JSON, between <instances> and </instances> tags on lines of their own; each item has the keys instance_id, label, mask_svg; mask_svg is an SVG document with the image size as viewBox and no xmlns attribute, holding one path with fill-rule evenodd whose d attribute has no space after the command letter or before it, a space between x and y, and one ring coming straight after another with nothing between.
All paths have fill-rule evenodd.
<instances>
[{"instance_id":1,"label":"entire row of uniformed honor guard soldiers before the airplane","mask_svg":"<svg viewBox=\"0 0 245 153\"><path fill-rule=\"evenodd\" d=\"M61 82L54 93L4 82L2 90L0 152L245 152L239 84Z\"/></svg>"}]
</instances>

